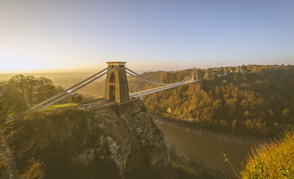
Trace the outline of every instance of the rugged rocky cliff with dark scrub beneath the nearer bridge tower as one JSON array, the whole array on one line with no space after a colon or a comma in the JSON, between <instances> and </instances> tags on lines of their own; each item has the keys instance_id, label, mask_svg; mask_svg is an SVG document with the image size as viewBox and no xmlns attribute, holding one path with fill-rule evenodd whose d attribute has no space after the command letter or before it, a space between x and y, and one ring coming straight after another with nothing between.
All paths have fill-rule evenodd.
<instances>
[{"instance_id":1,"label":"rugged rocky cliff with dark scrub beneath the nearer bridge tower","mask_svg":"<svg viewBox=\"0 0 294 179\"><path fill-rule=\"evenodd\" d=\"M124 116L67 110L31 119L15 144L44 162L48 179L174 178L163 134L140 100Z\"/></svg>"}]
</instances>

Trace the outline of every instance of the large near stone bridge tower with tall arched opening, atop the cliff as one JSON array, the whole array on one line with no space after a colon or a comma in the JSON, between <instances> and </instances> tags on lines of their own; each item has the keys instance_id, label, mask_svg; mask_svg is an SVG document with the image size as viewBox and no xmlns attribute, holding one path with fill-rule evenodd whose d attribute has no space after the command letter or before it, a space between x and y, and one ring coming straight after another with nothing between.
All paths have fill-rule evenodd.
<instances>
[{"instance_id":1,"label":"large near stone bridge tower with tall arched opening, atop the cliff","mask_svg":"<svg viewBox=\"0 0 294 179\"><path fill-rule=\"evenodd\" d=\"M125 64L127 62L106 62L107 71L114 69L106 76L105 99L110 101L123 102L130 99L129 86Z\"/></svg>"}]
</instances>

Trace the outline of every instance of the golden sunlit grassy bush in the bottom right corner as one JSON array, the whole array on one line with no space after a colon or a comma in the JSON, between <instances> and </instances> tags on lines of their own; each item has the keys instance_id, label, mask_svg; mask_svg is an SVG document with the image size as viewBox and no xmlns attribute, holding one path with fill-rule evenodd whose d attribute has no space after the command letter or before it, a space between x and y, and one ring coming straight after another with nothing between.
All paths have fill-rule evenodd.
<instances>
[{"instance_id":1,"label":"golden sunlit grassy bush in the bottom right corner","mask_svg":"<svg viewBox=\"0 0 294 179\"><path fill-rule=\"evenodd\" d=\"M242 179L294 179L294 132L251 149Z\"/></svg>"}]
</instances>

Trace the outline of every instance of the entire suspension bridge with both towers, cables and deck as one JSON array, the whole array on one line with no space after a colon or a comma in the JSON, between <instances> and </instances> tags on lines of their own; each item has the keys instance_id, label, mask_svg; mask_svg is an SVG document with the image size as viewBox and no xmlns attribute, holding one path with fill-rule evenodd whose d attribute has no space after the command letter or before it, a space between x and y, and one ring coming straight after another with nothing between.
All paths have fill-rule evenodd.
<instances>
[{"instance_id":1,"label":"entire suspension bridge with both towers, cables and deck","mask_svg":"<svg viewBox=\"0 0 294 179\"><path fill-rule=\"evenodd\" d=\"M154 92L189 85L188 94L192 95L202 89L203 73L200 69L193 68L192 72L182 81L165 84L150 80L126 67L126 62L107 62L108 67L82 82L56 94L49 99L34 105L26 110L41 111L46 107L69 96L75 91L89 85L95 80L106 75L105 97L88 104L77 106L80 110L114 109L118 115L127 113L132 107L134 100Z\"/></svg>"}]
</instances>

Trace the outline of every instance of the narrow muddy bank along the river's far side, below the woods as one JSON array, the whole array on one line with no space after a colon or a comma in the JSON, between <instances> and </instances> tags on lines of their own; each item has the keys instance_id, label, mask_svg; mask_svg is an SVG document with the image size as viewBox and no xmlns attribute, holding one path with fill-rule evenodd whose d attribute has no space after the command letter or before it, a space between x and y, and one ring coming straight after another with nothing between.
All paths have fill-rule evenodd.
<instances>
[{"instance_id":1,"label":"narrow muddy bank along the river's far side, below the woods","mask_svg":"<svg viewBox=\"0 0 294 179\"><path fill-rule=\"evenodd\" d=\"M170 127L174 127L174 128L183 130L185 132L193 133L193 134L196 134L199 136L208 136L211 138L216 138L219 141L237 142L239 144L256 144L262 140L262 139L251 137L251 136L227 134L227 133L218 132L218 131L210 131L210 130L206 130L206 129L199 129L199 128L195 128L195 127L190 127L186 124L183 124L179 120L165 119L159 115L151 115L151 116L152 116L154 122L159 123L161 125L167 125Z\"/></svg>"}]
</instances>

